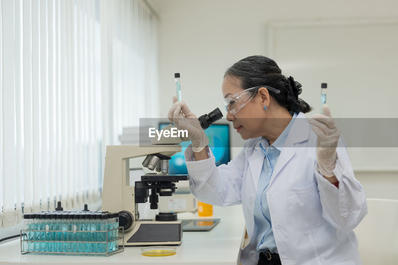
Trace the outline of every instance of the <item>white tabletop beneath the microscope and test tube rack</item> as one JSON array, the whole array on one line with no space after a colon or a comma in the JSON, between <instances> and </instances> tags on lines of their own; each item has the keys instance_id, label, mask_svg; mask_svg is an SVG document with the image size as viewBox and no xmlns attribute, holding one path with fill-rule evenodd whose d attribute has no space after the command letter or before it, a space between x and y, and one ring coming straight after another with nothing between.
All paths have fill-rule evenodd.
<instances>
[{"instance_id":1,"label":"white tabletop beneath the microscope and test tube rack","mask_svg":"<svg viewBox=\"0 0 398 265\"><path fill-rule=\"evenodd\" d=\"M141 247L125 247L124 251L109 257L89 255L39 255L20 252L20 239L0 245L0 263L13 264L239 264L245 224L242 205L231 207L213 206L213 218L221 218L211 231L183 232L181 245L176 254L164 257L141 255Z\"/></svg>"}]
</instances>

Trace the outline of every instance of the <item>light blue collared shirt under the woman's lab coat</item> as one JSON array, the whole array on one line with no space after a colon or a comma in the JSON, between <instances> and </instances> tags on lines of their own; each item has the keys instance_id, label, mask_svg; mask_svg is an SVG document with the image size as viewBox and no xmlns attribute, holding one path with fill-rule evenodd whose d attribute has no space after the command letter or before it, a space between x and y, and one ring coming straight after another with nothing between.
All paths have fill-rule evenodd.
<instances>
[{"instance_id":1,"label":"light blue collared shirt under the woman's lab coat","mask_svg":"<svg viewBox=\"0 0 398 265\"><path fill-rule=\"evenodd\" d=\"M267 187L273 169L281 154L282 147L285 144L287 135L294 123L297 113L294 113L289 125L279 135L279 137L269 146L269 141L262 138L260 141L260 148L264 153L263 168L261 169L260 178L258 181L258 188L256 193L256 202L254 203L254 226L256 228L257 250L271 253L278 253L275 238L272 232L271 215L267 203Z\"/></svg>"}]
</instances>

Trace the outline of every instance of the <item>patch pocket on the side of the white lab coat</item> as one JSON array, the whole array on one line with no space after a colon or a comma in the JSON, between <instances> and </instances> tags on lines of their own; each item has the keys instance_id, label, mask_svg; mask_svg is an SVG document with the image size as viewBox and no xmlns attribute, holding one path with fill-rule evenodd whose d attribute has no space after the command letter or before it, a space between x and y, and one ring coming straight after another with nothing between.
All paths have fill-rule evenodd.
<instances>
[{"instance_id":1,"label":"patch pocket on the side of the white lab coat","mask_svg":"<svg viewBox=\"0 0 398 265\"><path fill-rule=\"evenodd\" d=\"M287 201L292 226L299 232L308 231L324 222L316 182L302 188L288 189Z\"/></svg>"}]
</instances>

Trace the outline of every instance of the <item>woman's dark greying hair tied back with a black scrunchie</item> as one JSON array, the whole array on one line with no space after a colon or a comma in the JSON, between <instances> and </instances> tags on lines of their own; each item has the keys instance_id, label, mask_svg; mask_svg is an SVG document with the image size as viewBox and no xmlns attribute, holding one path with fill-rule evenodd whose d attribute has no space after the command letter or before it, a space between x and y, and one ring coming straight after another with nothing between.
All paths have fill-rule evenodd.
<instances>
[{"instance_id":1,"label":"woman's dark greying hair tied back with a black scrunchie","mask_svg":"<svg viewBox=\"0 0 398 265\"><path fill-rule=\"evenodd\" d=\"M268 90L269 94L288 111L307 113L312 107L298 98L298 88L292 77L286 78L277 63L261 55L249 56L236 63L225 71L225 77L235 77L240 80L243 89L256 86L272 86L281 93ZM255 92L257 93L257 92Z\"/></svg>"}]
</instances>

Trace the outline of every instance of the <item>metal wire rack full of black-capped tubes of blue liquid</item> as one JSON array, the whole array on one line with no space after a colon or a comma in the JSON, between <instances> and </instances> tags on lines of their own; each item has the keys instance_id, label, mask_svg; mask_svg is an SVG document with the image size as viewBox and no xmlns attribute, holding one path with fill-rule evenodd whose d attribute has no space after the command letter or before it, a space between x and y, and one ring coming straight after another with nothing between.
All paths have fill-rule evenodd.
<instances>
[{"instance_id":1,"label":"metal wire rack full of black-capped tubes of blue liquid","mask_svg":"<svg viewBox=\"0 0 398 265\"><path fill-rule=\"evenodd\" d=\"M47 216L51 213L38 212L27 216L29 218L29 216L40 214ZM64 212L64 214L74 214L74 212ZM101 212L93 212L93 214L98 215ZM46 220L46 218L38 218L37 220L38 222L33 222L33 220L30 222L30 219L25 221L27 229L21 230L20 234L21 254L54 253L110 256L124 250L124 229L117 226L118 221L106 223L105 226L98 226L97 224L90 227L89 224L86 224L86 228L83 228L70 222L66 223L67 218L64 219L64 222L62 222L63 219L56 220L56 222L53 222L55 225L49 225L49 220L40 223L40 220ZM121 236L119 236L120 234ZM119 246L119 240L122 242L121 246Z\"/></svg>"}]
</instances>

